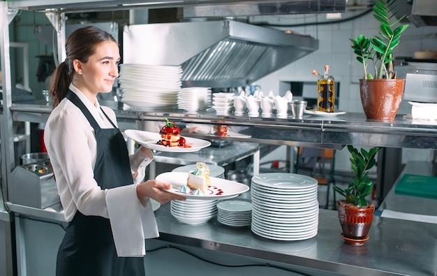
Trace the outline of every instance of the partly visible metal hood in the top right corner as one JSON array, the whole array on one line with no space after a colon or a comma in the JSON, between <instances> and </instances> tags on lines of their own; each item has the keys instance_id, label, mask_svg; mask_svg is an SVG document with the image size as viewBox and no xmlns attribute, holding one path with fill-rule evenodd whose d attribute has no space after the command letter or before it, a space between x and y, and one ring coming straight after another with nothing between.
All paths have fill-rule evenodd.
<instances>
[{"instance_id":1,"label":"partly visible metal hood in the top right corner","mask_svg":"<svg viewBox=\"0 0 437 276\"><path fill-rule=\"evenodd\" d=\"M407 16L415 27L437 26L436 0L410 0L411 14Z\"/></svg>"}]
</instances>

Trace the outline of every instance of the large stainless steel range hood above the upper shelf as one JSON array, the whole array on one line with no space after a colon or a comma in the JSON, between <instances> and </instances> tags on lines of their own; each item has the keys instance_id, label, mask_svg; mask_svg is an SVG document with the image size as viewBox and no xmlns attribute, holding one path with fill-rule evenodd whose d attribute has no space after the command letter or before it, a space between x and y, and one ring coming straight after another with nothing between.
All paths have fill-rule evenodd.
<instances>
[{"instance_id":1,"label":"large stainless steel range hood above the upper shelf","mask_svg":"<svg viewBox=\"0 0 437 276\"><path fill-rule=\"evenodd\" d=\"M318 50L309 36L233 20L124 27L123 63L182 66L183 87L240 87Z\"/></svg>"}]
</instances>

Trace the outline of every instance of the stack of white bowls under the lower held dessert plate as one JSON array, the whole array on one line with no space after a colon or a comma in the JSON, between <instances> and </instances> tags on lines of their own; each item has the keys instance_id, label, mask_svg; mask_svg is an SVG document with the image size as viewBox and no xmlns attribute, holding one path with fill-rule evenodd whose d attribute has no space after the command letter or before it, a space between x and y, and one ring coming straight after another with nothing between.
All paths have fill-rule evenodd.
<instances>
[{"instance_id":1,"label":"stack of white bowls under the lower held dessert plate","mask_svg":"<svg viewBox=\"0 0 437 276\"><path fill-rule=\"evenodd\" d=\"M170 201L170 213L183 224L204 224L217 215L218 200Z\"/></svg>"}]
</instances>

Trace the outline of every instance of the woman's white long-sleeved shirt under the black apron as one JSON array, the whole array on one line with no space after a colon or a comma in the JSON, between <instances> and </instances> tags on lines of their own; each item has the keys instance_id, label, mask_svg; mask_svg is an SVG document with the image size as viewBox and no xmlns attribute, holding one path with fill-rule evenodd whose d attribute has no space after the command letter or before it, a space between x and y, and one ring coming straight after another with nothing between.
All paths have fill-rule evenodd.
<instances>
[{"instance_id":1,"label":"woman's white long-sleeved shirt under the black apron","mask_svg":"<svg viewBox=\"0 0 437 276\"><path fill-rule=\"evenodd\" d=\"M113 128L101 111L97 100L94 106L74 85L70 85L69 88L84 103L102 129ZM114 111L105 106L102 108L117 126ZM84 215L109 218L105 200L108 190L102 190L94 180L97 154L94 129L82 111L68 99L63 99L47 119L44 142L56 177L66 220L71 221L77 210ZM137 159L144 159L142 167L151 162L151 159L145 157L141 150L135 152L134 155ZM140 175L144 176L144 173ZM137 177L137 180L138 178L140 177ZM117 187L111 192L127 195L126 201L138 201L138 208L145 207L145 202L147 202L138 200L136 184ZM130 210L125 211L130 212Z\"/></svg>"}]
</instances>

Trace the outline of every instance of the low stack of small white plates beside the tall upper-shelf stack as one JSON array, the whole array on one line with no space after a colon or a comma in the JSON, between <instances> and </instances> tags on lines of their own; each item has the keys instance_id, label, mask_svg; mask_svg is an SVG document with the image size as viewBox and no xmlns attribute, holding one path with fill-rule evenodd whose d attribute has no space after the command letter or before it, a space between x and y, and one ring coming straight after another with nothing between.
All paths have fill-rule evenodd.
<instances>
[{"instance_id":1,"label":"low stack of small white plates beside the tall upper-shelf stack","mask_svg":"<svg viewBox=\"0 0 437 276\"><path fill-rule=\"evenodd\" d=\"M211 103L209 87L186 87L177 94L177 108L186 111L197 111L207 108Z\"/></svg>"}]
</instances>

